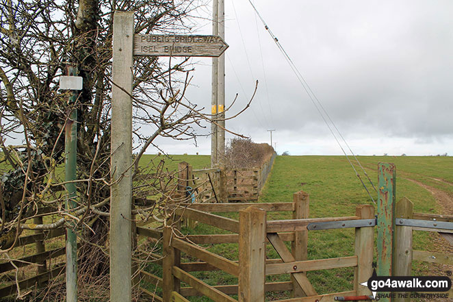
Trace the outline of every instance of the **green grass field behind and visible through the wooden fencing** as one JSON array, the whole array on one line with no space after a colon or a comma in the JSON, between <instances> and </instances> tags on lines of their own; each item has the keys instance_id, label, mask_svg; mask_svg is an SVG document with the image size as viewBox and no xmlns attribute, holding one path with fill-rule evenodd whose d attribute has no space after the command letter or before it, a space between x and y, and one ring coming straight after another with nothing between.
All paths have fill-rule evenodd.
<instances>
[{"instance_id":1,"label":"green grass field behind and visible through the wooden fencing","mask_svg":"<svg viewBox=\"0 0 453 302\"><path fill-rule=\"evenodd\" d=\"M196 155L194 166L203 165L203 160L209 164L209 157L201 158ZM177 157L178 160L191 162L193 156L188 158ZM203 159L203 160L202 160ZM414 203L415 212L441 213L442 209L428 190L422 188L413 179L428 186L453 192L453 158L450 157L377 157L361 156L359 161L377 185L378 162L392 162L396 164L396 198L407 197ZM192 162L191 162L192 163ZM354 162L357 171L360 170ZM363 173L361 173L363 175ZM367 177L363 181L376 200L377 193ZM341 156L279 156L276 158L274 168L266 186L261 192L259 202L289 202L292 194L304 190L310 194L310 218L328 216L351 216L359 204L373 204L367 192L361 185L346 158ZM450 195L451 196L451 195ZM231 218L238 218L237 214L229 214ZM289 213L273 213L268 219L291 218ZM195 229L184 229L190 234L213 234L217 229L207 225L198 225ZM414 232L414 249L430 250L435 234L427 232ZM237 244L216 244L209 247L209 251L218 253L231 260L237 260ZM309 260L328 257L344 257L354 255L354 230L333 230L309 232ZM376 252L375 252L376 254ZM272 247L268 247L268 257L278 257ZM184 259L183 261L189 261ZM154 268L158 273L158 268ZM414 274L426 274L430 270L427 264L415 262ZM352 268L335 270L320 270L307 273L311 283L318 293L352 290ZM208 284L237 284L237 279L223 273L200 272L197 277L203 278ZM287 281L289 275L268 277L272 281ZM276 292L268 300L283 299L287 292ZM211 301L205 297L192 297L191 301Z\"/></svg>"}]
</instances>

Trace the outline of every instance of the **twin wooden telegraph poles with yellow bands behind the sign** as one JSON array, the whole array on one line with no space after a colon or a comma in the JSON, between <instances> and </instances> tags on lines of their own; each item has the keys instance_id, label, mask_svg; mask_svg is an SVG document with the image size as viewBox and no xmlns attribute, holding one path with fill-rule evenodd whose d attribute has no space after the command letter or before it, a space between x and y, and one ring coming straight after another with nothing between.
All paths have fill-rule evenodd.
<instances>
[{"instance_id":1,"label":"twin wooden telegraph poles with yellow bands behind the sign","mask_svg":"<svg viewBox=\"0 0 453 302\"><path fill-rule=\"evenodd\" d=\"M225 2L213 0L212 34L225 37ZM216 123L211 123L211 166L218 165L225 153L225 57L212 58L211 114Z\"/></svg>"}]
</instances>

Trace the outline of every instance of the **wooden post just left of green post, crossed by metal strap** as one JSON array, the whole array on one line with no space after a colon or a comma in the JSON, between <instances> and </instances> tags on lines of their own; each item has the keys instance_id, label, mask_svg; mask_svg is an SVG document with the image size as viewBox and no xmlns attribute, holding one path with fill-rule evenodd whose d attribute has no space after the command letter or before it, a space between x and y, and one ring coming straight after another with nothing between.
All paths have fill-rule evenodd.
<instances>
[{"instance_id":1,"label":"wooden post just left of green post, crossed by metal strap","mask_svg":"<svg viewBox=\"0 0 453 302\"><path fill-rule=\"evenodd\" d=\"M357 205L356 216L361 219L374 218L374 207L372 205ZM355 229L355 255L357 255L357 267L354 269L354 290L358 296L371 294L365 286L360 286L367 281L373 273L373 251L374 251L374 227L356 227Z\"/></svg>"}]
</instances>

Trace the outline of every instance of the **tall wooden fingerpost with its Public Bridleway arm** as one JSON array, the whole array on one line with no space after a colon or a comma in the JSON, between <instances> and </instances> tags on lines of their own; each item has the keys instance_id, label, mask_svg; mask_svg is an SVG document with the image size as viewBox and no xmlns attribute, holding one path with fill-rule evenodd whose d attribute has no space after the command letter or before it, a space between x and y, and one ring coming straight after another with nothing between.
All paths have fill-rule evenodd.
<instances>
[{"instance_id":1,"label":"tall wooden fingerpost with its Public Bridleway arm","mask_svg":"<svg viewBox=\"0 0 453 302\"><path fill-rule=\"evenodd\" d=\"M219 36L135 34L133 12L115 12L112 66L110 301L131 301L133 55L218 57ZM128 239L129 238L129 239Z\"/></svg>"}]
</instances>

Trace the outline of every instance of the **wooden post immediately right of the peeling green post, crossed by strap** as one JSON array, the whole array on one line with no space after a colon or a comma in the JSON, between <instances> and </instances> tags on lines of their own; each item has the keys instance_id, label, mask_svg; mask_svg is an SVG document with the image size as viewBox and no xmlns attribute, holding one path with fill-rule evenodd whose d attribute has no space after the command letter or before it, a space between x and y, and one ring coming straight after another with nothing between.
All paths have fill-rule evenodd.
<instances>
[{"instance_id":1,"label":"wooden post immediately right of the peeling green post, crossed by strap","mask_svg":"<svg viewBox=\"0 0 453 302\"><path fill-rule=\"evenodd\" d=\"M406 197L403 197L396 203L396 218L412 219L413 203ZM395 246L393 249L393 275L410 276L412 268L412 227L398 226L395 229ZM404 294L401 292L401 294ZM394 302L409 302L411 299L398 297Z\"/></svg>"}]
</instances>

